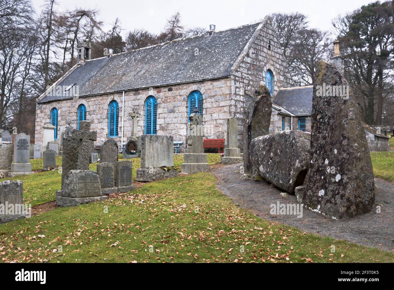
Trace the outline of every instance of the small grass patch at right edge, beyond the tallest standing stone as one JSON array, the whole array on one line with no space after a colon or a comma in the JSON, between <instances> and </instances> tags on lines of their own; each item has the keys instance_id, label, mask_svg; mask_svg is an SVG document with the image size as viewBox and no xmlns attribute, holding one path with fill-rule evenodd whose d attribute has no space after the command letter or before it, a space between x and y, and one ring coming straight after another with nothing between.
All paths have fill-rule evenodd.
<instances>
[{"instance_id":1,"label":"small grass patch at right edge, beyond the tallest standing stone","mask_svg":"<svg viewBox=\"0 0 394 290\"><path fill-rule=\"evenodd\" d=\"M375 177L394 181L394 152L372 152L370 154Z\"/></svg>"}]
</instances>

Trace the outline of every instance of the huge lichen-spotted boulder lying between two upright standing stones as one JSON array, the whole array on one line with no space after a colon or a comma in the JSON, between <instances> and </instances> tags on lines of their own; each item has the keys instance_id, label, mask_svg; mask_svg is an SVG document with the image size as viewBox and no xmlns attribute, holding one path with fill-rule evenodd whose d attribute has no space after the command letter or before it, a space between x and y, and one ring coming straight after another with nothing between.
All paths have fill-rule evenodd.
<instances>
[{"instance_id":1,"label":"huge lichen-spotted boulder lying between two upright standing stones","mask_svg":"<svg viewBox=\"0 0 394 290\"><path fill-rule=\"evenodd\" d=\"M249 152L258 173L289 193L302 185L309 165L310 133L282 131L250 142Z\"/></svg>"}]
</instances>

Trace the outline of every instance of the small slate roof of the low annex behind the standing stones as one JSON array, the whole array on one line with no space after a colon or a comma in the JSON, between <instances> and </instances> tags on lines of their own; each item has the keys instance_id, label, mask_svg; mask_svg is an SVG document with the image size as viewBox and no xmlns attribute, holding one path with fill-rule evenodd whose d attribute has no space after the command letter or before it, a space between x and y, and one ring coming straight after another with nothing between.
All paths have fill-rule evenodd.
<instances>
[{"instance_id":1,"label":"small slate roof of the low annex behind the standing stones","mask_svg":"<svg viewBox=\"0 0 394 290\"><path fill-rule=\"evenodd\" d=\"M312 114L313 86L280 89L275 95L275 103L296 116Z\"/></svg>"}]
</instances>

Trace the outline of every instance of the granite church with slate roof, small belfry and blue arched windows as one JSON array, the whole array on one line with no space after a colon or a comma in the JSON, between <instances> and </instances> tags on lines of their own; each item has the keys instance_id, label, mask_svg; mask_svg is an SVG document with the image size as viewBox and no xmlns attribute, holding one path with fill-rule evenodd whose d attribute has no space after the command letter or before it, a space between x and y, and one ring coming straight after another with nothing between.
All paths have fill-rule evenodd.
<instances>
[{"instance_id":1,"label":"granite church with slate roof, small belfry and blue arched windows","mask_svg":"<svg viewBox=\"0 0 394 290\"><path fill-rule=\"evenodd\" d=\"M269 17L94 60L90 50L86 43L78 47L78 63L37 99L36 144L46 124L57 128L54 138L61 144L67 122L78 128L81 120L97 131L96 144L108 138L124 144L141 134L172 135L185 144L188 116L197 107L205 138L225 138L227 119L235 116L242 148L245 107L258 84L279 93L271 131L310 127L302 116L311 108L296 114L285 108L289 92L302 95L310 88L288 89L294 82Z\"/></svg>"}]
</instances>

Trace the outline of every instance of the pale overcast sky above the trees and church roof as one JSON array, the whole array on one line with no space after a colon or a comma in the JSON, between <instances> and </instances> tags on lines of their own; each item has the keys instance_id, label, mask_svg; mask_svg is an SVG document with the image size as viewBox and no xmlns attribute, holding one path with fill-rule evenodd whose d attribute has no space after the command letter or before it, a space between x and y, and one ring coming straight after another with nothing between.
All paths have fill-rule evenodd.
<instances>
[{"instance_id":1,"label":"pale overcast sky above the trees and church roof","mask_svg":"<svg viewBox=\"0 0 394 290\"><path fill-rule=\"evenodd\" d=\"M331 30L331 20L339 14L346 14L372 2L371 0L57 0L58 9L72 10L97 7L100 19L110 23L119 18L126 31L145 28L159 33L166 20L175 12L181 14L182 24L186 27L205 27L215 24L216 30L224 30L244 24L255 23L264 16L274 13L300 12L309 17L310 27ZM41 11L44 0L33 0L37 13Z\"/></svg>"}]
</instances>

